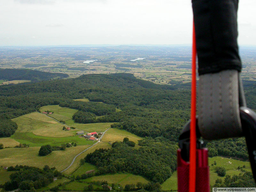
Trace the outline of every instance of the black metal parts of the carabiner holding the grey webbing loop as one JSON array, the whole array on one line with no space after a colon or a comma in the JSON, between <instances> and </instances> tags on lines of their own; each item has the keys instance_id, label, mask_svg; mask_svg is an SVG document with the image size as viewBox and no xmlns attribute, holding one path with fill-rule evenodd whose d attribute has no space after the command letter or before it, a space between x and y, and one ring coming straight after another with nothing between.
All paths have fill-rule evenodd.
<instances>
[{"instance_id":1,"label":"black metal parts of the carabiner holding the grey webbing loop","mask_svg":"<svg viewBox=\"0 0 256 192\"><path fill-rule=\"evenodd\" d=\"M247 107L240 107L240 119L242 124L243 136L245 136L249 159L252 168L252 174L256 181L256 113ZM232 131L232 130L230 130ZM190 137L190 120L184 126L179 137L179 147L181 149L181 157L185 161L189 161L189 137ZM201 134L197 125L196 118L196 148L202 148L203 141L199 140Z\"/></svg>"}]
</instances>

